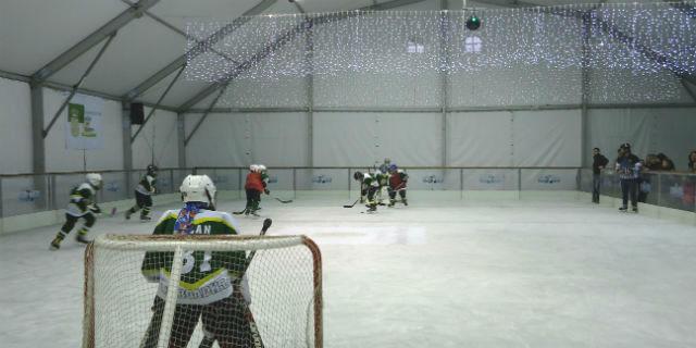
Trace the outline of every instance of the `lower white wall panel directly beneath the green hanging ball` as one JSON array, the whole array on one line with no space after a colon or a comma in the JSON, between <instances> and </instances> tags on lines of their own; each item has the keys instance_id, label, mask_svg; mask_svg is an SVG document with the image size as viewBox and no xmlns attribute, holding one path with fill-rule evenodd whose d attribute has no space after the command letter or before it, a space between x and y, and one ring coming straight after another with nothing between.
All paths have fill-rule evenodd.
<instances>
[{"instance_id":1,"label":"lower white wall panel directly beneath the green hanging ball","mask_svg":"<svg viewBox=\"0 0 696 348\"><path fill-rule=\"evenodd\" d=\"M467 112L447 116L448 165L512 166L512 112Z\"/></svg>"}]
</instances>

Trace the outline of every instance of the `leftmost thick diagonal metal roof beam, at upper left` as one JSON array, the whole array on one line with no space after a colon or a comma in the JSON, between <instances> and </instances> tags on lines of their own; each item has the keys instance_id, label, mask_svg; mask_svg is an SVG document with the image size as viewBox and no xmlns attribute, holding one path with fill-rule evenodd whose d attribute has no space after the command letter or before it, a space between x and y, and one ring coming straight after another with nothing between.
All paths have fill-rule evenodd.
<instances>
[{"instance_id":1,"label":"leftmost thick diagonal metal roof beam, at upper left","mask_svg":"<svg viewBox=\"0 0 696 348\"><path fill-rule=\"evenodd\" d=\"M58 73L61 69L65 67L65 65L70 64L83 53L95 47L95 45L113 35L119 29L130 23L130 21L140 17L142 15L142 12L152 8L160 0L138 1L138 3L128 8L120 15L109 21L109 23L104 24L102 27L84 38L82 41L77 42L75 46L71 47L69 50L53 59L50 63L39 69L34 75L32 75L32 79L34 79L36 83L45 82L53 74Z\"/></svg>"}]
</instances>

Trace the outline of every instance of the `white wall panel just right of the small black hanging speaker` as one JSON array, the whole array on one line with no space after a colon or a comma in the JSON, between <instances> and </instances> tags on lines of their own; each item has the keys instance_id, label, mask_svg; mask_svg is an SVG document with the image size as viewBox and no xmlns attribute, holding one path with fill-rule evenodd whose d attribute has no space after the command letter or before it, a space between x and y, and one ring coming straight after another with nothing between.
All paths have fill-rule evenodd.
<instances>
[{"instance_id":1,"label":"white wall panel just right of the small black hanging speaker","mask_svg":"<svg viewBox=\"0 0 696 348\"><path fill-rule=\"evenodd\" d=\"M150 113L145 108L145 114ZM135 135L139 126L130 126L130 136ZM160 167L178 166L178 133L176 132L176 113L158 110L138 134L132 145L133 167L144 169L152 163Z\"/></svg>"}]
</instances>

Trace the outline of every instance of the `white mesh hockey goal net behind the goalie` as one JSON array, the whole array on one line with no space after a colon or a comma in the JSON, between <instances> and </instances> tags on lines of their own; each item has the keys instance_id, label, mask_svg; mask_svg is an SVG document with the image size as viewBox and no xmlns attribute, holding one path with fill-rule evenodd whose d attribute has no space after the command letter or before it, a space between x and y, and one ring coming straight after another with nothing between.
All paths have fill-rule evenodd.
<instances>
[{"instance_id":1,"label":"white mesh hockey goal net behind the goalie","mask_svg":"<svg viewBox=\"0 0 696 348\"><path fill-rule=\"evenodd\" d=\"M322 347L321 254L304 236L98 237L83 348Z\"/></svg>"}]
</instances>

